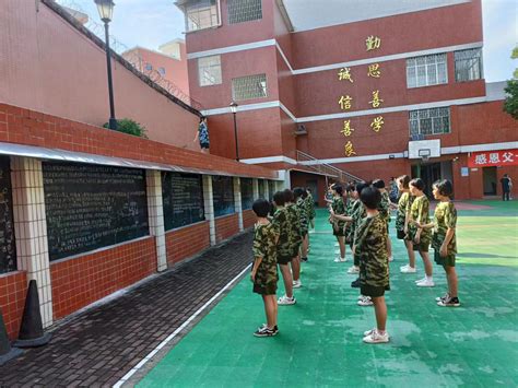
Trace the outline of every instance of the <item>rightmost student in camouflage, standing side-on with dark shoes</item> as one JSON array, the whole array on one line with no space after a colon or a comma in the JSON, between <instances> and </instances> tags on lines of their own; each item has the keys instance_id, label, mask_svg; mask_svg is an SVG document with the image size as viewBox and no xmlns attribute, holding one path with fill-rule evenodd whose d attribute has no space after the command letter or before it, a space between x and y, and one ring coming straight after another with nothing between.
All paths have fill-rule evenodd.
<instances>
[{"instance_id":1,"label":"rightmost student in camouflage, standing side-on with dark shoes","mask_svg":"<svg viewBox=\"0 0 518 388\"><path fill-rule=\"evenodd\" d=\"M433 185L434 198L438 200L435 208L434 222L421 225L424 228L433 227L432 246L435 249L435 262L446 271L448 292L436 298L437 305L442 307L460 306L458 297L458 280L455 270L455 256L457 254L457 239L455 230L457 227L457 210L450 197L454 186L447 179L437 180Z\"/></svg>"}]
</instances>

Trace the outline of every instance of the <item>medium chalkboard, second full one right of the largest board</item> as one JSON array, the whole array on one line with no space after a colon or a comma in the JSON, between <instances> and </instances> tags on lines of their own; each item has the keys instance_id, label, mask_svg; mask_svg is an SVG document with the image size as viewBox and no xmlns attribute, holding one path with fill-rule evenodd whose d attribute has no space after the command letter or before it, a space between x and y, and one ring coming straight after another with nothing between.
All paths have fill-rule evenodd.
<instances>
[{"instance_id":1,"label":"medium chalkboard, second full one right of the largest board","mask_svg":"<svg viewBox=\"0 0 518 388\"><path fill-rule=\"evenodd\" d=\"M162 173L165 230L205 219L201 175Z\"/></svg>"}]
</instances>

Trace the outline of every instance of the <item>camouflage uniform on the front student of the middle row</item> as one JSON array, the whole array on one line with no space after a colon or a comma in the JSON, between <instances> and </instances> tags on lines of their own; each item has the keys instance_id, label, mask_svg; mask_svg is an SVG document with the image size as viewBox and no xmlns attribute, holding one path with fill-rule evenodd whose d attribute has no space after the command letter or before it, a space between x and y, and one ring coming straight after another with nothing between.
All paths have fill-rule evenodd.
<instances>
[{"instance_id":1,"label":"camouflage uniform on the front student of the middle row","mask_svg":"<svg viewBox=\"0 0 518 388\"><path fill-rule=\"evenodd\" d=\"M390 290L387 223L380 214L365 217L356 231L362 295L382 296Z\"/></svg>"}]
</instances>

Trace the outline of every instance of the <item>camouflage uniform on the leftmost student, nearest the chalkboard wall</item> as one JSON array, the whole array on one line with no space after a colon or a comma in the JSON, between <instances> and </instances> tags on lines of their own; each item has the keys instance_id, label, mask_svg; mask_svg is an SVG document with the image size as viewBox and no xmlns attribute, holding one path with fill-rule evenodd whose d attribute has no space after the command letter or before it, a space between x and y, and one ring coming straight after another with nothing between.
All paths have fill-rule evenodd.
<instances>
[{"instance_id":1,"label":"camouflage uniform on the leftmost student, nearest the chalkboard wall","mask_svg":"<svg viewBox=\"0 0 518 388\"><path fill-rule=\"evenodd\" d=\"M275 228L272 224L256 224L254 230L254 258L262 258L257 268L254 292L261 295L275 295L276 282L276 247Z\"/></svg>"}]
</instances>

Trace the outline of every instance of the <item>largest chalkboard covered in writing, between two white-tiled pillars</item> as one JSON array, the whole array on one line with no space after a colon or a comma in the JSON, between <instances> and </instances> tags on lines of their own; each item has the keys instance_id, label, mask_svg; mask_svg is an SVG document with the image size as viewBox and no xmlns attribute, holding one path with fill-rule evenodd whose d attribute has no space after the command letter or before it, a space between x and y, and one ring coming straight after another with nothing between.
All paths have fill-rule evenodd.
<instances>
[{"instance_id":1,"label":"largest chalkboard covered in writing, between two white-tiled pillars","mask_svg":"<svg viewBox=\"0 0 518 388\"><path fill-rule=\"evenodd\" d=\"M142 169L44 163L50 260L150 233Z\"/></svg>"}]
</instances>

